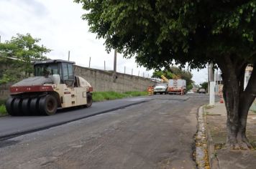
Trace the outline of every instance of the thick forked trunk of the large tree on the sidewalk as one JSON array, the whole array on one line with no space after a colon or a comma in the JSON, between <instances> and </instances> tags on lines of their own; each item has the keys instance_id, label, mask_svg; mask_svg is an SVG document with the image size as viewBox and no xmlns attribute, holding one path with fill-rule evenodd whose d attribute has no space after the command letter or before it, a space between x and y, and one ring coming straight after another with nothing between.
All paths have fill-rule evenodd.
<instances>
[{"instance_id":1,"label":"thick forked trunk of the large tree on the sidewalk","mask_svg":"<svg viewBox=\"0 0 256 169\"><path fill-rule=\"evenodd\" d=\"M256 96L256 69L253 69L250 81L244 90L244 70L247 63L242 64L231 58L227 57L218 63L224 82L223 96L227 109L226 147L248 149L252 148L252 145L246 137L246 124L250 106Z\"/></svg>"}]
</instances>

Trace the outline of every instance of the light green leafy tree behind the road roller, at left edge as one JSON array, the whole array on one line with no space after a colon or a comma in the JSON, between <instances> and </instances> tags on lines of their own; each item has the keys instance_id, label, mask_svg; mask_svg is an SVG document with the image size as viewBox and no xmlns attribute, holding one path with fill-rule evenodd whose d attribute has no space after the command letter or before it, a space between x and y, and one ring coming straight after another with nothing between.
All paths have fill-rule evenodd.
<instances>
[{"instance_id":1,"label":"light green leafy tree behind the road roller, at left edge","mask_svg":"<svg viewBox=\"0 0 256 169\"><path fill-rule=\"evenodd\" d=\"M0 84L14 82L24 76L27 77L33 72L32 61L45 60L43 56L50 52L46 47L40 47L40 39L33 38L30 34L17 34L10 41L0 43ZM15 69L10 69L15 67Z\"/></svg>"}]
</instances>

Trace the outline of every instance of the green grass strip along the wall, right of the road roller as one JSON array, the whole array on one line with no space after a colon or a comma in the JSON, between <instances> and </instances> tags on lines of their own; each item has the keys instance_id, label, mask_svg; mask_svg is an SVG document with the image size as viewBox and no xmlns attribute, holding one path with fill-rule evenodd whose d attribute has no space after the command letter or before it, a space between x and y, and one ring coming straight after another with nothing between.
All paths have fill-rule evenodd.
<instances>
[{"instance_id":1,"label":"green grass strip along the wall, right of the road roller","mask_svg":"<svg viewBox=\"0 0 256 169\"><path fill-rule=\"evenodd\" d=\"M147 92L93 92L93 102L147 95Z\"/></svg>"}]
</instances>

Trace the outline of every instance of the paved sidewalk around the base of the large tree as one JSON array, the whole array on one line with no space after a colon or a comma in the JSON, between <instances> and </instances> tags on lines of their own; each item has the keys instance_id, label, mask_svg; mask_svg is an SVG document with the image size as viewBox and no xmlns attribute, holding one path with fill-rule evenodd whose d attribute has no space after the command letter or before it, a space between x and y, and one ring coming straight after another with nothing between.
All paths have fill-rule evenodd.
<instances>
[{"instance_id":1,"label":"paved sidewalk around the base of the large tree","mask_svg":"<svg viewBox=\"0 0 256 169\"><path fill-rule=\"evenodd\" d=\"M213 108L204 109L209 144L211 168L256 168L256 150L227 150L226 142L227 111L225 105L216 102ZM256 113L249 112L247 117L247 137L256 148Z\"/></svg>"}]
</instances>

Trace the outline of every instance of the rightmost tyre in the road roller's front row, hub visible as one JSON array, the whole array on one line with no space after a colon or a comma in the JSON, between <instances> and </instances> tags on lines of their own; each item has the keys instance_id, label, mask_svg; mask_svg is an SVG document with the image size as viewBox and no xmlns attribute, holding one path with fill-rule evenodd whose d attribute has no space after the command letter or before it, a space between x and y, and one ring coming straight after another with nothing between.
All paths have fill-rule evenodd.
<instances>
[{"instance_id":1,"label":"rightmost tyre in the road roller's front row, hub visible","mask_svg":"<svg viewBox=\"0 0 256 169\"><path fill-rule=\"evenodd\" d=\"M54 96L46 95L39 101L39 110L42 115L54 115L57 111L58 103Z\"/></svg>"}]
</instances>

